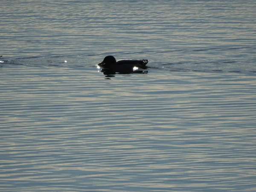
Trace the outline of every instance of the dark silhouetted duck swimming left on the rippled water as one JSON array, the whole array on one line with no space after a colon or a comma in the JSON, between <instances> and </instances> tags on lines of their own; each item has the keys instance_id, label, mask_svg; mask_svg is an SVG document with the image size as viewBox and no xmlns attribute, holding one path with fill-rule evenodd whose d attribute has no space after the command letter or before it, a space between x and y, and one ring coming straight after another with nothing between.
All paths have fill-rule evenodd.
<instances>
[{"instance_id":1,"label":"dark silhouetted duck swimming left on the rippled water","mask_svg":"<svg viewBox=\"0 0 256 192\"><path fill-rule=\"evenodd\" d=\"M114 56L108 55L97 65L97 68L101 68L103 71L111 71L115 73L133 73L138 69L148 68L146 66L147 63L147 59L116 61Z\"/></svg>"}]
</instances>

